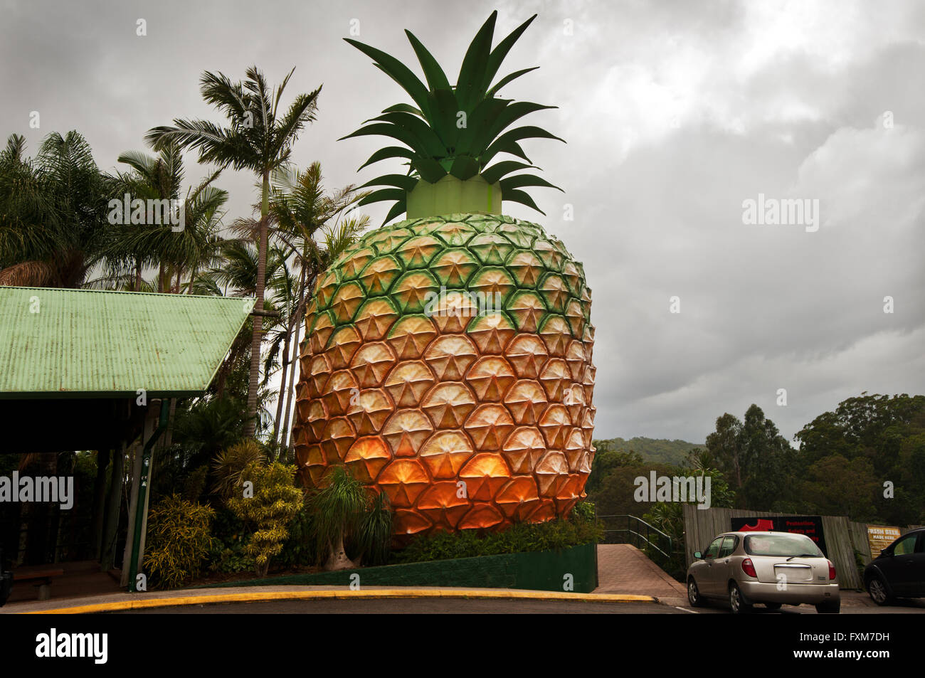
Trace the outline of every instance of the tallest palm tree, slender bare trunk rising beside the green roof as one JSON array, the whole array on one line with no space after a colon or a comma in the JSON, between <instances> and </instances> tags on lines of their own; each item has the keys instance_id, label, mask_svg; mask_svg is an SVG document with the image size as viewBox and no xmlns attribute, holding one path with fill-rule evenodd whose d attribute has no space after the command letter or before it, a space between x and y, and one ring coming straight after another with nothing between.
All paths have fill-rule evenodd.
<instances>
[{"instance_id":1,"label":"tallest palm tree, slender bare trunk rising beside the green roof","mask_svg":"<svg viewBox=\"0 0 925 678\"><path fill-rule=\"evenodd\" d=\"M309 94L298 94L285 113L279 111L279 100L294 70L292 68L276 88L267 86L264 74L256 66L247 69L246 80L242 82L232 82L222 73L206 71L200 80L203 99L216 106L228 118L228 127L223 128L208 120L177 118L172 127L150 129L146 136L147 142L156 150L176 142L181 148L198 149L200 162L248 169L262 180L255 290L257 301L253 317L251 373L247 394L247 436L253 436L257 414L270 173L289 160L292 144L298 139L302 128L314 121L317 98L321 92L321 87L318 87Z\"/></svg>"}]
</instances>

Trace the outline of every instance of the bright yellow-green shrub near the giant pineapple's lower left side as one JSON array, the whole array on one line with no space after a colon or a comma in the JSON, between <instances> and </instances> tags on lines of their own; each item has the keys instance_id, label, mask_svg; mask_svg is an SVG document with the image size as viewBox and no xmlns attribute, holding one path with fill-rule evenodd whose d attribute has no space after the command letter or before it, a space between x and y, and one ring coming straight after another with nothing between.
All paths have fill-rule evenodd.
<instances>
[{"instance_id":1,"label":"bright yellow-green shrub near the giant pineapple's lower left side","mask_svg":"<svg viewBox=\"0 0 925 678\"><path fill-rule=\"evenodd\" d=\"M251 462L240 477L253 483L253 496L246 493L228 499L228 508L253 529L244 552L253 557L257 576L265 577L270 559L283 549L289 537L287 526L299 512L302 491L295 487L295 467L279 462Z\"/></svg>"}]
</instances>

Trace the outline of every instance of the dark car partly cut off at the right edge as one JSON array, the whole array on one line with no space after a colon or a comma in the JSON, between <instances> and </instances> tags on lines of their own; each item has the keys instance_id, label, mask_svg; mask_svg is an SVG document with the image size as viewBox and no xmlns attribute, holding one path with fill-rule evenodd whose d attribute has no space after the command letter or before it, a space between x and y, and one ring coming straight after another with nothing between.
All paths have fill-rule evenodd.
<instances>
[{"instance_id":1,"label":"dark car partly cut off at the right edge","mask_svg":"<svg viewBox=\"0 0 925 678\"><path fill-rule=\"evenodd\" d=\"M864 586L878 605L895 598L925 598L925 527L907 532L864 570Z\"/></svg>"}]
</instances>

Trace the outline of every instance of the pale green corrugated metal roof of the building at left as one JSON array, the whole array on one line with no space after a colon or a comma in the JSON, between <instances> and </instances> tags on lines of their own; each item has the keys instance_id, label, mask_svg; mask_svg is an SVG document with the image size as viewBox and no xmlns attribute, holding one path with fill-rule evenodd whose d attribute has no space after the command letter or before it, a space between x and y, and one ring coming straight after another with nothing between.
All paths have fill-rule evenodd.
<instances>
[{"instance_id":1,"label":"pale green corrugated metal roof of the building at left","mask_svg":"<svg viewBox=\"0 0 925 678\"><path fill-rule=\"evenodd\" d=\"M0 286L0 398L202 392L252 309L237 297Z\"/></svg>"}]
</instances>

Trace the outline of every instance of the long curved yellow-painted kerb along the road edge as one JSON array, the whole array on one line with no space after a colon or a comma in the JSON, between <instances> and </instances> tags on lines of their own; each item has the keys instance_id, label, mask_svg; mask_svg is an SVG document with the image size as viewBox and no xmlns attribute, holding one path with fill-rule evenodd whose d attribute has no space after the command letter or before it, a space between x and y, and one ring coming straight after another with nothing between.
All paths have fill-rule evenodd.
<instances>
[{"instance_id":1,"label":"long curved yellow-painted kerb along the road edge","mask_svg":"<svg viewBox=\"0 0 925 678\"><path fill-rule=\"evenodd\" d=\"M218 603L244 603L267 600L323 600L347 598L475 598L475 599L526 599L526 600L572 600L582 602L623 603L645 602L657 603L652 596L631 596L605 593L559 593L556 591L449 591L426 588L378 588L351 590L320 591L259 591L255 593L221 593L206 596L182 596L177 598L136 598L119 600L111 603L80 605L73 608L56 610L34 610L22 614L93 614L94 612L112 612L118 610L142 610L147 608L173 608L183 605L216 605Z\"/></svg>"}]
</instances>

